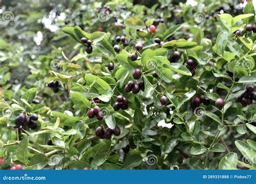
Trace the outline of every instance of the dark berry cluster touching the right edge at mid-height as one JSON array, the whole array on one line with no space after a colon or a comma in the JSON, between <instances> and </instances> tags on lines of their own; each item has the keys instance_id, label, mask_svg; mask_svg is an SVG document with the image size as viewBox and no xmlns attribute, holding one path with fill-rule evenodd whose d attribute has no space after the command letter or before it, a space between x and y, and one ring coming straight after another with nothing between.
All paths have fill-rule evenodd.
<instances>
[{"instance_id":1,"label":"dark berry cluster touching the right edge at mid-height","mask_svg":"<svg viewBox=\"0 0 256 184\"><path fill-rule=\"evenodd\" d=\"M242 107L246 107L247 105L251 105L253 100L256 100L256 92L254 91L254 86L249 84L246 87L245 92L237 97L237 102L242 104Z\"/></svg>"}]
</instances>

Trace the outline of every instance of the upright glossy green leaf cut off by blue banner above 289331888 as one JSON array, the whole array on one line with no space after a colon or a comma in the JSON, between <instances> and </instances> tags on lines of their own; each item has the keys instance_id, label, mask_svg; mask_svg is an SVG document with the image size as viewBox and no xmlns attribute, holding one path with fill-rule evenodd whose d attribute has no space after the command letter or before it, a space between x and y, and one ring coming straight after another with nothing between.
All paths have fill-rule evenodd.
<instances>
[{"instance_id":1,"label":"upright glossy green leaf cut off by blue banner above 289331888","mask_svg":"<svg viewBox=\"0 0 256 184\"><path fill-rule=\"evenodd\" d=\"M220 160L219 169L237 169L237 153L230 152Z\"/></svg>"}]
</instances>

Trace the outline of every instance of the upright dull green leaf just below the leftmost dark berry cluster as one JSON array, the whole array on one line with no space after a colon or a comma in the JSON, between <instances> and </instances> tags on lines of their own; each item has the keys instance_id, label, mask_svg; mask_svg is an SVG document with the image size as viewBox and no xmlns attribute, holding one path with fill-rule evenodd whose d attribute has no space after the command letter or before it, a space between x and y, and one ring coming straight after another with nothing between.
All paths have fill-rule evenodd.
<instances>
[{"instance_id":1,"label":"upright dull green leaf just below the leftmost dark berry cluster","mask_svg":"<svg viewBox=\"0 0 256 184\"><path fill-rule=\"evenodd\" d=\"M28 145L29 145L28 138L24 138L17 145L16 157L19 161L21 161L25 164L28 163Z\"/></svg>"}]
</instances>

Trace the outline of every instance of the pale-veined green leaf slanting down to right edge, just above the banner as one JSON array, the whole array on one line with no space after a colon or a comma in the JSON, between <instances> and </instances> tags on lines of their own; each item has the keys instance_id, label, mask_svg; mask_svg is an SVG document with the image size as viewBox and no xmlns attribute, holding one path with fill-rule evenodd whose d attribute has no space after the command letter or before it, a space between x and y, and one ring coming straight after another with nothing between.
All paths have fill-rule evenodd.
<instances>
[{"instance_id":1,"label":"pale-veined green leaf slanting down to right edge, just above the banner","mask_svg":"<svg viewBox=\"0 0 256 184\"><path fill-rule=\"evenodd\" d=\"M247 159L250 160L251 163L255 161L256 152L251 149L251 147L241 140L235 141L235 146L237 146L238 150L242 153L242 155Z\"/></svg>"}]
</instances>

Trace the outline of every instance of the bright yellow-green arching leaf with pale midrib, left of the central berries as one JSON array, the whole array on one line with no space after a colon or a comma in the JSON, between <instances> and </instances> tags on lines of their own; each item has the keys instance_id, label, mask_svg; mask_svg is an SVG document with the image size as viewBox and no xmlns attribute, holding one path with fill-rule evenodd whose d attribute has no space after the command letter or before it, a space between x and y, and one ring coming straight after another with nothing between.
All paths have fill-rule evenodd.
<instances>
[{"instance_id":1,"label":"bright yellow-green arching leaf with pale midrib, left of the central berries","mask_svg":"<svg viewBox=\"0 0 256 184\"><path fill-rule=\"evenodd\" d=\"M87 85L92 84L92 86L99 91L99 94L105 94L107 90L112 90L109 84L105 82L103 79L100 79L100 77L98 76L85 74L84 80L86 81Z\"/></svg>"}]
</instances>

